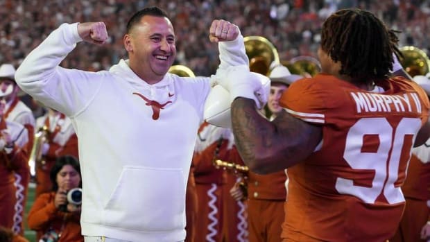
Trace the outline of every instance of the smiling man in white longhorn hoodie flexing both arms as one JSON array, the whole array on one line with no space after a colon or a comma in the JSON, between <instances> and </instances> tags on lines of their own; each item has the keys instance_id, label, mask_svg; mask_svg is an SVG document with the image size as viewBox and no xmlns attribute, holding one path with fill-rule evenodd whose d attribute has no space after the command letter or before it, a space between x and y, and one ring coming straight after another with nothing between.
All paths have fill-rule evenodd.
<instances>
[{"instance_id":1,"label":"smiling man in white longhorn hoodie flexing both arms","mask_svg":"<svg viewBox=\"0 0 430 242\"><path fill-rule=\"evenodd\" d=\"M237 26L214 20L209 32L221 60L213 78L248 67ZM167 73L175 34L159 8L131 17L123 37L129 60L109 71L58 66L82 40L103 44L105 24L62 24L26 57L16 80L74 124L85 241L183 241L185 188L209 78Z\"/></svg>"}]
</instances>

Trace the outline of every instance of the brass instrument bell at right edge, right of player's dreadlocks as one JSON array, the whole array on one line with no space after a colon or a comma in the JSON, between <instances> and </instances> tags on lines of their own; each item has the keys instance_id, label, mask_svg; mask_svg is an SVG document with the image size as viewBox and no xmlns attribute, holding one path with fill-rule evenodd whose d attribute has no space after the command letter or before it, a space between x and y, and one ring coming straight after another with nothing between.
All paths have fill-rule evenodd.
<instances>
[{"instance_id":1,"label":"brass instrument bell at right edge, right of player's dreadlocks","mask_svg":"<svg viewBox=\"0 0 430 242\"><path fill-rule=\"evenodd\" d=\"M399 58L399 62L410 76L426 76L429 73L430 60L424 51L415 46L403 46L400 52L403 58Z\"/></svg>"}]
</instances>

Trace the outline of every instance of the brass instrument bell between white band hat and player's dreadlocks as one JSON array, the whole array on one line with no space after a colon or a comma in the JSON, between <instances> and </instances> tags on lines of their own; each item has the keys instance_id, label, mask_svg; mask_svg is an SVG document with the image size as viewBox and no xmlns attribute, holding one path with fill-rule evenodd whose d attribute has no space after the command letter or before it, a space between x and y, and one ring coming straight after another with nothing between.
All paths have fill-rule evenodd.
<instances>
[{"instance_id":1,"label":"brass instrument bell between white band hat and player's dreadlocks","mask_svg":"<svg viewBox=\"0 0 430 242\"><path fill-rule=\"evenodd\" d=\"M291 74L296 74L304 77L315 76L321 71L320 62L311 56L300 55L292 58L288 62L283 61L282 64L289 69Z\"/></svg>"}]
</instances>

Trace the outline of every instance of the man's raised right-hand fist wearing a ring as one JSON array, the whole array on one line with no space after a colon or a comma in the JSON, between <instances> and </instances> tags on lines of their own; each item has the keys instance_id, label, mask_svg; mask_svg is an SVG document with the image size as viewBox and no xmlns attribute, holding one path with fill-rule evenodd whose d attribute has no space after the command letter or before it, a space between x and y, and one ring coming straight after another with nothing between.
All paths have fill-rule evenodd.
<instances>
[{"instance_id":1,"label":"man's raised right-hand fist wearing a ring","mask_svg":"<svg viewBox=\"0 0 430 242\"><path fill-rule=\"evenodd\" d=\"M215 19L209 28L209 40L210 42L236 40L240 32L239 27L235 24L223 19Z\"/></svg>"}]
</instances>

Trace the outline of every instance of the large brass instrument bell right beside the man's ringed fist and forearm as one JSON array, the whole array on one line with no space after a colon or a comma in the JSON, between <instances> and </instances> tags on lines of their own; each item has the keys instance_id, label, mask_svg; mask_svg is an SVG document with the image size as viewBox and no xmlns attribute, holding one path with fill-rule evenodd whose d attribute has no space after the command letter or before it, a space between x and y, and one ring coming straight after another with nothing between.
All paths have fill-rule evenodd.
<instances>
[{"instance_id":1,"label":"large brass instrument bell right beside the man's ringed fist and forearm","mask_svg":"<svg viewBox=\"0 0 430 242\"><path fill-rule=\"evenodd\" d=\"M246 36L246 55L250 60L250 71L267 76L270 67L280 64L279 54L273 44L262 36Z\"/></svg>"}]
</instances>

